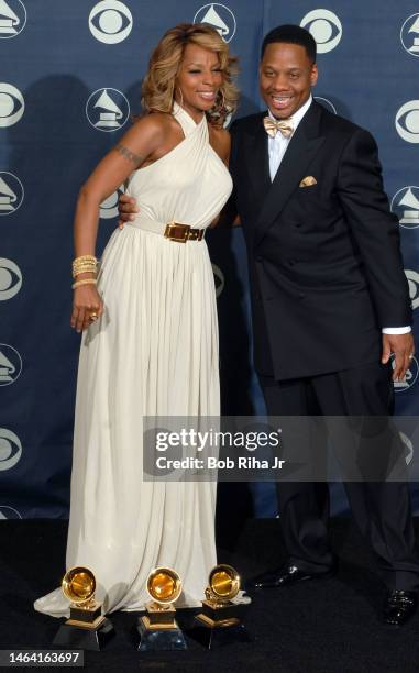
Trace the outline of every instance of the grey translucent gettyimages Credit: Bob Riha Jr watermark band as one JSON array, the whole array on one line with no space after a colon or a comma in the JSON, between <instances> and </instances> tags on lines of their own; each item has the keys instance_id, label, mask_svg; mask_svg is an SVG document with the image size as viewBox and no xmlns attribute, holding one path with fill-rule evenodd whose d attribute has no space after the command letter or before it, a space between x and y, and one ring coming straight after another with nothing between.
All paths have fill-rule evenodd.
<instances>
[{"instance_id":1,"label":"grey translucent gettyimages Credit: Bob Riha Jr watermark band","mask_svg":"<svg viewBox=\"0 0 419 673\"><path fill-rule=\"evenodd\" d=\"M145 417L144 481L419 478L419 417Z\"/></svg>"}]
</instances>

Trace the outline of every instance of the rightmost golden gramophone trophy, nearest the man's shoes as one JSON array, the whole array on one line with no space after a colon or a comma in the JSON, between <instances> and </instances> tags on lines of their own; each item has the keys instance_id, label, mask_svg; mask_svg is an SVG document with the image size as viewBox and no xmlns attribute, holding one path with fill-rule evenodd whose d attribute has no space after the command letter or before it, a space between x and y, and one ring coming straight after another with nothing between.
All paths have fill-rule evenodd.
<instances>
[{"instance_id":1,"label":"rightmost golden gramophone trophy, nearest the man's shoes","mask_svg":"<svg viewBox=\"0 0 419 673\"><path fill-rule=\"evenodd\" d=\"M249 604L233 603L240 591L240 575L231 565L216 565L209 574L206 599L190 635L208 649L218 644L250 642L243 616Z\"/></svg>"}]
</instances>

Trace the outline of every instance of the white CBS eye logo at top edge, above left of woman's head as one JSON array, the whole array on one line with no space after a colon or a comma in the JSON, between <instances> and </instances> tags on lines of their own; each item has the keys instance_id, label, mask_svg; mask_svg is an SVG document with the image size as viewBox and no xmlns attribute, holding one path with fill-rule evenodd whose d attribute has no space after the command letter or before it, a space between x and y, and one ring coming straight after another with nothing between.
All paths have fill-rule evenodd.
<instances>
[{"instance_id":1,"label":"white CBS eye logo at top edge, above left of woman's head","mask_svg":"<svg viewBox=\"0 0 419 673\"><path fill-rule=\"evenodd\" d=\"M90 12L89 29L99 42L118 44L132 31L132 14L119 0L102 0Z\"/></svg>"}]
</instances>

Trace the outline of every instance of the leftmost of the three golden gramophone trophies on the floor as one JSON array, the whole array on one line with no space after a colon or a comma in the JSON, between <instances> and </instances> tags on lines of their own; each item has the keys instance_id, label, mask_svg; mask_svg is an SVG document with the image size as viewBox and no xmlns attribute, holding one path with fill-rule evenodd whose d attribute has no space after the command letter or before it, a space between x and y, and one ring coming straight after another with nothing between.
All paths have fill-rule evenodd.
<instances>
[{"instance_id":1,"label":"leftmost of the three golden gramophone trophies on the floor","mask_svg":"<svg viewBox=\"0 0 419 673\"><path fill-rule=\"evenodd\" d=\"M114 636L111 621L95 600L96 578L88 567L71 567L63 577L63 594L70 602L70 617L60 626L55 646L101 650Z\"/></svg>"}]
</instances>

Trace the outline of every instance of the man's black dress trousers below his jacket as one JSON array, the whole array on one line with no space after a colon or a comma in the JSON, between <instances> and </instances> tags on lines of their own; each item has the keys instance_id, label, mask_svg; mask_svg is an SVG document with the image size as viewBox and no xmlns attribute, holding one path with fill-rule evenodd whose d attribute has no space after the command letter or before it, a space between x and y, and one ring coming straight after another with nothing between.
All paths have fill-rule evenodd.
<instances>
[{"instance_id":1,"label":"man's black dress trousers below his jacket","mask_svg":"<svg viewBox=\"0 0 419 673\"><path fill-rule=\"evenodd\" d=\"M276 380L260 375L269 416L387 416L394 406L392 369L368 364L309 378ZM346 482L354 519L371 545L388 588L419 589L406 482ZM329 488L324 482L280 482L278 510L289 562L310 573L328 571Z\"/></svg>"}]
</instances>

